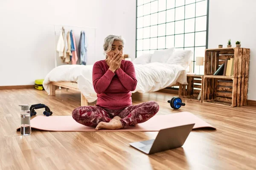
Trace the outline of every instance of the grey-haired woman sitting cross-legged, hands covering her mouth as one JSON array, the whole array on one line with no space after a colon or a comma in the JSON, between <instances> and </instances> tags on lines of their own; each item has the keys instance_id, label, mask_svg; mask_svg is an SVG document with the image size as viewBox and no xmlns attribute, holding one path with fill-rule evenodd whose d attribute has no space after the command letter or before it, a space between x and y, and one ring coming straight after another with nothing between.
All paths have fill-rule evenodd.
<instances>
[{"instance_id":1,"label":"grey-haired woman sitting cross-legged, hands covering her mouth","mask_svg":"<svg viewBox=\"0 0 256 170\"><path fill-rule=\"evenodd\" d=\"M136 89L137 79L133 63L122 59L123 47L121 36L105 38L106 59L93 65L97 103L74 109L72 116L76 122L96 127L96 130L114 130L143 123L159 111L159 105L154 101L132 105L131 91Z\"/></svg>"}]
</instances>

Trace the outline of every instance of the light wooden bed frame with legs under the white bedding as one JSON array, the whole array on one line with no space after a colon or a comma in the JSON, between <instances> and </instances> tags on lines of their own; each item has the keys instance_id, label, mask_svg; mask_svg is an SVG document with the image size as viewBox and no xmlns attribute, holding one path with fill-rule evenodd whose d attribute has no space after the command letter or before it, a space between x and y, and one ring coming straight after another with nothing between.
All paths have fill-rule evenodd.
<instances>
[{"instance_id":1,"label":"light wooden bed frame with legs under the white bedding","mask_svg":"<svg viewBox=\"0 0 256 170\"><path fill-rule=\"evenodd\" d=\"M58 87L72 89L75 91L80 91L78 88L78 84L76 82L51 82L50 83L50 95L51 96L55 96L55 90ZM81 93L81 91L80 91L80 93ZM87 105L88 105L88 101L84 97L84 95L81 93L81 106L87 106Z\"/></svg>"}]
</instances>

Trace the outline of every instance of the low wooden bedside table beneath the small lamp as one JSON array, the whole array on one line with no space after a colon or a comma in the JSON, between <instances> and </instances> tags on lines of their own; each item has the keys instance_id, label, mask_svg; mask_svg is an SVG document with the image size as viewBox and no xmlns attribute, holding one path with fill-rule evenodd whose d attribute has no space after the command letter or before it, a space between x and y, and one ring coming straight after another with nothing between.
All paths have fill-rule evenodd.
<instances>
[{"instance_id":1,"label":"low wooden bedside table beneath the small lamp","mask_svg":"<svg viewBox=\"0 0 256 170\"><path fill-rule=\"evenodd\" d=\"M179 97L203 102L204 75L187 74L187 85L180 84Z\"/></svg>"}]
</instances>

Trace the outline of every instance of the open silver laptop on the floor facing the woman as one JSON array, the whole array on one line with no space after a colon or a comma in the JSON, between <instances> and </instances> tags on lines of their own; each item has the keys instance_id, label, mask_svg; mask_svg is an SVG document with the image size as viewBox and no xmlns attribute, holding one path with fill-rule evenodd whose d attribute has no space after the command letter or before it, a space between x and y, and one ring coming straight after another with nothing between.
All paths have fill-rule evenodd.
<instances>
[{"instance_id":1,"label":"open silver laptop on the floor facing the woman","mask_svg":"<svg viewBox=\"0 0 256 170\"><path fill-rule=\"evenodd\" d=\"M156 139L133 142L130 145L143 153L153 154L183 146L195 123L161 129Z\"/></svg>"}]
</instances>

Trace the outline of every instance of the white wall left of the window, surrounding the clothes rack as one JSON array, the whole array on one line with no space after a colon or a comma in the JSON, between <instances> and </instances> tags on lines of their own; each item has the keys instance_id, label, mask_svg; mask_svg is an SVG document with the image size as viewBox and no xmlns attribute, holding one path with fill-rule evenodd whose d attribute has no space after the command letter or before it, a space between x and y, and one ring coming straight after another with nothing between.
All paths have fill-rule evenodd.
<instances>
[{"instance_id":1,"label":"white wall left of the window, surrounding the clothes rack","mask_svg":"<svg viewBox=\"0 0 256 170\"><path fill-rule=\"evenodd\" d=\"M96 27L95 60L108 34L135 58L136 0L1 0L0 86L33 85L54 68L54 25Z\"/></svg>"}]
</instances>

